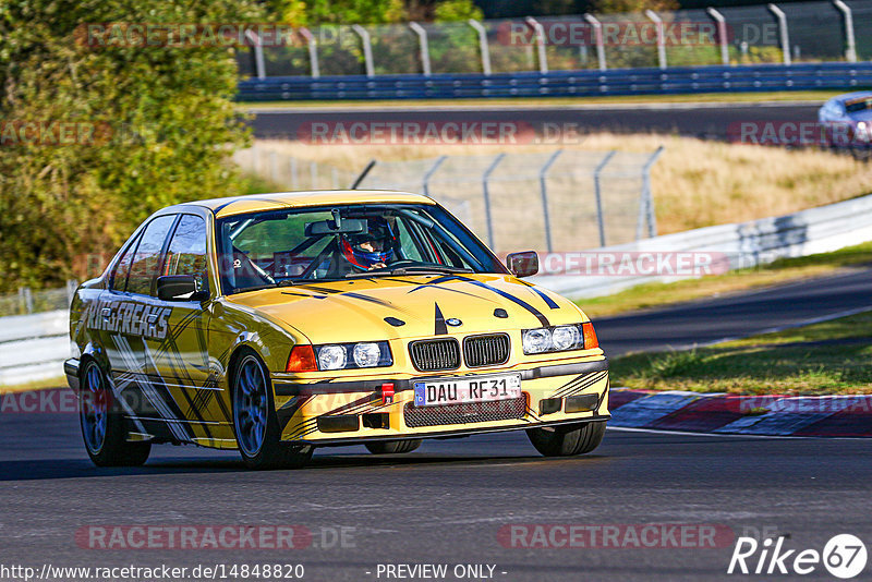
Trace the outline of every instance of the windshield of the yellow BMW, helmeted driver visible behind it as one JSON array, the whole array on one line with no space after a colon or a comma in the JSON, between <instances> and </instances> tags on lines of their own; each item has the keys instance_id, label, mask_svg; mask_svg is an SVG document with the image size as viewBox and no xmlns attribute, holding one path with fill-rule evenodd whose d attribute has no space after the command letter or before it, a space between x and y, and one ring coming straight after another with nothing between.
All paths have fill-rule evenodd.
<instances>
[{"instance_id":1,"label":"windshield of the yellow BMW, helmeted driver visible behind it","mask_svg":"<svg viewBox=\"0 0 872 582\"><path fill-rule=\"evenodd\" d=\"M364 204L268 210L217 221L225 294L305 281L508 272L444 208Z\"/></svg>"}]
</instances>

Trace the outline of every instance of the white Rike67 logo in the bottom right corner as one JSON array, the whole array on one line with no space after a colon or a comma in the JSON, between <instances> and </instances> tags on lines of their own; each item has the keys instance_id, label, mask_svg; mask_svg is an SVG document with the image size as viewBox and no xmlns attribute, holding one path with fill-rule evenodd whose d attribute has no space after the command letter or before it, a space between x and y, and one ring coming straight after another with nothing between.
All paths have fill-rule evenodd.
<instances>
[{"instance_id":1,"label":"white Rike67 logo in the bottom right corner","mask_svg":"<svg viewBox=\"0 0 872 582\"><path fill-rule=\"evenodd\" d=\"M865 545L856 535L833 536L824 545L823 551L787 549L785 539L778 536L774 542L766 538L758 543L753 537L739 537L727 573L807 575L820 572L823 566L832 575L847 580L865 569Z\"/></svg>"}]
</instances>

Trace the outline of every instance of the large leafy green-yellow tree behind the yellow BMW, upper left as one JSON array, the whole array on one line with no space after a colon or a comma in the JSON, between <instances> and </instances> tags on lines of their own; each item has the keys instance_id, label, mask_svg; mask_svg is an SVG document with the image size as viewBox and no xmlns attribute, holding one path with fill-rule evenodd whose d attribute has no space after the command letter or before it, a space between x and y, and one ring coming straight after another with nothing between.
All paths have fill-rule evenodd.
<instances>
[{"instance_id":1,"label":"large leafy green-yellow tree behind the yellow BMW, upper left","mask_svg":"<svg viewBox=\"0 0 872 582\"><path fill-rule=\"evenodd\" d=\"M82 23L262 19L250 0L0 3L0 292L81 277L152 211L235 193L234 49L97 47Z\"/></svg>"}]
</instances>

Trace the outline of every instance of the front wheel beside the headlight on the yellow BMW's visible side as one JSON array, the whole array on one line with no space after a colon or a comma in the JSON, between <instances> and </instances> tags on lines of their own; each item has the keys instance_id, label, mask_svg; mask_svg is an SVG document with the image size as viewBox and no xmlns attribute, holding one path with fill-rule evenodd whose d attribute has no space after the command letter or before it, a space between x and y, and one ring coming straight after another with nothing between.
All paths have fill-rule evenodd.
<instances>
[{"instance_id":1,"label":"front wheel beside the headlight on the yellow BMW's visible side","mask_svg":"<svg viewBox=\"0 0 872 582\"><path fill-rule=\"evenodd\" d=\"M245 350L232 374L233 434L249 469L298 469L306 464L313 447L281 442L272 385L261 359Z\"/></svg>"}]
</instances>

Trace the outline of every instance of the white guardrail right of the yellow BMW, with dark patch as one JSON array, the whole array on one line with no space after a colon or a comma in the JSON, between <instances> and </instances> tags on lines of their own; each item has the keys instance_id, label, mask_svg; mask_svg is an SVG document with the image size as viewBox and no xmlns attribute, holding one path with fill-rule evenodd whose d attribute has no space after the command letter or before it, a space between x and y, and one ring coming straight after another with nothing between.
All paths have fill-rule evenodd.
<instances>
[{"instance_id":1,"label":"white guardrail right of the yellow BMW, with dark patch","mask_svg":"<svg viewBox=\"0 0 872 582\"><path fill-rule=\"evenodd\" d=\"M616 260L615 268L605 272L619 272L617 262L625 256L632 262L638 260L642 254L664 258L669 254L675 257L676 253L704 253L723 260L723 270L731 270L765 265L783 257L828 253L867 241L872 241L872 194L791 215L664 234L596 248L591 253L596 254L594 259L607 256L609 260ZM555 258L566 264L566 254ZM573 257L574 264L583 265L583 258ZM540 262L547 269L552 258L542 253ZM603 272L598 269L600 265L596 266L596 272ZM687 278L690 276L676 274L572 274L541 275L531 280L568 298L583 299L608 295L641 283L670 282Z\"/></svg>"}]
</instances>

